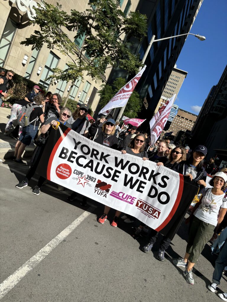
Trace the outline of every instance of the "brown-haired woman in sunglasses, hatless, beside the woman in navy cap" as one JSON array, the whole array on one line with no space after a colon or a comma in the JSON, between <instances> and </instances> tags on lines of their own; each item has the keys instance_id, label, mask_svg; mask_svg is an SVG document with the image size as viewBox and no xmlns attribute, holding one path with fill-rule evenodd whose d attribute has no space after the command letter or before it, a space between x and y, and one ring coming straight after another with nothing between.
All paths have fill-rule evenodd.
<instances>
[{"instance_id":1,"label":"brown-haired woman in sunglasses, hatless, beside the woman in navy cap","mask_svg":"<svg viewBox=\"0 0 227 302\"><path fill-rule=\"evenodd\" d=\"M175 148L173 148L172 152L170 153L169 159L164 164L164 166L168 169L173 170L174 168L176 168L177 165L179 165L179 162L185 161L185 160L186 160L185 148L183 146L175 147ZM163 165L163 162L157 163L157 166L160 166L160 165ZM140 229L142 229L142 226L143 225L140 225ZM137 233L139 233L139 231L141 231L141 230L138 230ZM159 232L151 229L148 243L145 246L143 246L143 248L142 248L143 252L148 253L152 249L153 245L156 242L156 239L158 238L158 234L159 234ZM163 236L163 239L160 243L158 255L157 255L158 260L164 261L164 254L165 254L166 249L168 249L170 242L171 242L171 239L169 239L168 234L166 234L166 236Z\"/></svg>"}]
</instances>

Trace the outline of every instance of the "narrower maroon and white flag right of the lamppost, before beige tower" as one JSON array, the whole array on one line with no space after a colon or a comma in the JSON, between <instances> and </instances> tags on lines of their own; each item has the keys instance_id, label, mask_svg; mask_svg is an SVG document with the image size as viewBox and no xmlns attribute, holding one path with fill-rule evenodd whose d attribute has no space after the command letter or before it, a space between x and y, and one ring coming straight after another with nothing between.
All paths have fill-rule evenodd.
<instances>
[{"instance_id":1,"label":"narrower maroon and white flag right of the lamppost, before beige tower","mask_svg":"<svg viewBox=\"0 0 227 302\"><path fill-rule=\"evenodd\" d=\"M165 124L168 120L170 110L175 99L175 95L172 96L152 117L150 120L150 143L153 145L165 127Z\"/></svg>"}]
</instances>

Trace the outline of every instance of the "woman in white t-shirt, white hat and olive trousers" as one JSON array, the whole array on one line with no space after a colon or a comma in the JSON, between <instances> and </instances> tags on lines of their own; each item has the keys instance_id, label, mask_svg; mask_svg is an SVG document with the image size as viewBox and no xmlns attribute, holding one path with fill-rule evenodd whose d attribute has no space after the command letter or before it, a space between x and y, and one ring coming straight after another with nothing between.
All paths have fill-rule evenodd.
<instances>
[{"instance_id":1,"label":"woman in white t-shirt, white hat and olive trousers","mask_svg":"<svg viewBox=\"0 0 227 302\"><path fill-rule=\"evenodd\" d=\"M186 219L189 223L189 239L183 258L173 260L177 266L185 267L184 275L189 284L194 284L192 268L199 258L204 246L214 235L227 211L225 190L227 175L217 172L209 181L213 188L205 189L203 198L195 205L192 214Z\"/></svg>"}]
</instances>

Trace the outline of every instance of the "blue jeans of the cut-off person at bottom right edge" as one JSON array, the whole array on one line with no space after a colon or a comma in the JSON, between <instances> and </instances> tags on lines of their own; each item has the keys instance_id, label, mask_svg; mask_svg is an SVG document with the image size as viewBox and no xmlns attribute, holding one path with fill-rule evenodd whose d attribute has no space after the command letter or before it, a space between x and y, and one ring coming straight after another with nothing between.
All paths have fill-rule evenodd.
<instances>
[{"instance_id":1,"label":"blue jeans of the cut-off person at bottom right edge","mask_svg":"<svg viewBox=\"0 0 227 302\"><path fill-rule=\"evenodd\" d=\"M227 265L227 240L223 244L222 249L219 252L219 256L215 262L212 282L215 282L216 284L220 284L222 273L226 265Z\"/></svg>"}]
</instances>

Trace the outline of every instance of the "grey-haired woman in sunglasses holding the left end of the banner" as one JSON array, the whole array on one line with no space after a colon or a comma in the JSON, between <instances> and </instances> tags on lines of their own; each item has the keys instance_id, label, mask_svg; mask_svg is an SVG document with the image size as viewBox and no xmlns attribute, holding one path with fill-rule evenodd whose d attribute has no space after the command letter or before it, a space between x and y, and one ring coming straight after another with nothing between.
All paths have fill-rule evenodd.
<instances>
[{"instance_id":1,"label":"grey-haired woman in sunglasses holding the left end of the banner","mask_svg":"<svg viewBox=\"0 0 227 302\"><path fill-rule=\"evenodd\" d=\"M42 127L41 127L41 133L45 136L46 140L44 144L40 144L36 147L35 153L33 156L33 161L30 169L28 170L24 180L22 180L20 183L18 183L15 187L18 189L22 189L24 187L27 187L28 182L32 178L32 176L35 174L36 168L38 167L39 161L41 159L41 156L43 154L48 136L49 136L49 131L52 130L52 126L57 126L58 122L60 124L63 124L64 126L71 128L71 125L67 123L67 120L69 117L71 117L72 113L71 110L68 107L63 107L59 113L59 118L58 117L51 117L49 120L46 120ZM32 194L39 195L40 193L40 187L43 185L45 181L45 178L40 176L38 180L38 184L32 188Z\"/></svg>"}]
</instances>

